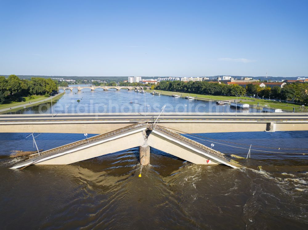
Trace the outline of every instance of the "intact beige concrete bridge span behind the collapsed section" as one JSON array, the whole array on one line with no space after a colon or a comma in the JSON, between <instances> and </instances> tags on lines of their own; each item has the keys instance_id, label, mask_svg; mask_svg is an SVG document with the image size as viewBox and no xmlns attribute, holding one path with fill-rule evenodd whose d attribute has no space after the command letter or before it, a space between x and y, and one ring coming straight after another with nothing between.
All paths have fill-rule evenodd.
<instances>
[{"instance_id":1,"label":"intact beige concrete bridge span behind the collapsed section","mask_svg":"<svg viewBox=\"0 0 308 230\"><path fill-rule=\"evenodd\" d=\"M158 113L0 115L0 132L105 133L128 125L153 123ZM164 113L160 126L182 133L307 131L308 115Z\"/></svg>"}]
</instances>

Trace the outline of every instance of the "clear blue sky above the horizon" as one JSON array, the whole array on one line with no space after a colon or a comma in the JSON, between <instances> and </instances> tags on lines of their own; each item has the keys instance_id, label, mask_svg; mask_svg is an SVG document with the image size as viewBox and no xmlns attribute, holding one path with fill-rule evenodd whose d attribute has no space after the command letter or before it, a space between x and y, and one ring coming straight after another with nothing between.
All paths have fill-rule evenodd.
<instances>
[{"instance_id":1,"label":"clear blue sky above the horizon","mask_svg":"<svg viewBox=\"0 0 308 230\"><path fill-rule=\"evenodd\" d=\"M308 1L0 0L0 74L308 76Z\"/></svg>"}]
</instances>

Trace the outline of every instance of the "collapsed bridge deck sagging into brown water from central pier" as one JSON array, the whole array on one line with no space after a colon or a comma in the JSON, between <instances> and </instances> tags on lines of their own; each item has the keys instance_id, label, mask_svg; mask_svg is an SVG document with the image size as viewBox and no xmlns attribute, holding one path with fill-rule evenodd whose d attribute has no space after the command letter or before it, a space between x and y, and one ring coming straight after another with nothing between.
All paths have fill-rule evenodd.
<instances>
[{"instance_id":1,"label":"collapsed bridge deck sagging into brown water from central pier","mask_svg":"<svg viewBox=\"0 0 308 230\"><path fill-rule=\"evenodd\" d=\"M167 141L165 140L166 136ZM11 168L16 169L29 165L71 164L113 153L121 149L124 150L141 146L147 142L149 146L162 151L165 150L169 154L196 164L206 164L206 160L211 159L212 163L210 164L225 164L232 168L241 167L239 164L232 162L231 159L226 158L219 151L213 150L164 127L157 125L154 128L152 124L137 123L43 151L40 155L20 162ZM164 149L164 146L166 149Z\"/></svg>"}]
</instances>

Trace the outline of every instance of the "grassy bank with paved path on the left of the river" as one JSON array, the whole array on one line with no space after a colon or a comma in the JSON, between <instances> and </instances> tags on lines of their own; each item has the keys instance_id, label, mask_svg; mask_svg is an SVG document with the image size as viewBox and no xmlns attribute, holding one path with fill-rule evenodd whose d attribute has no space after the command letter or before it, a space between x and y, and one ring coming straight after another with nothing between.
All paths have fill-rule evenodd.
<instances>
[{"instance_id":1,"label":"grassy bank with paved path on the left of the river","mask_svg":"<svg viewBox=\"0 0 308 230\"><path fill-rule=\"evenodd\" d=\"M52 98L52 102L58 101L63 95L64 95L64 92L59 93L59 95ZM11 102L9 104L2 104L2 105L0 105L0 109L10 108L10 107L13 107L13 106L18 106L18 105L23 105L23 104L26 104L26 103L29 103L29 102L31 102L31 104L26 105L26 108L32 107L34 105L39 105L41 103L50 102L50 97L49 97L49 100L35 103L36 101L40 101L40 100L47 99L47 98L44 97L44 96L41 96L41 95L33 95L33 97L34 97L34 99L29 99L28 97L23 97L24 101L22 101L22 102ZM23 109L23 107L2 111L1 113L15 112L15 111L18 111L18 110L21 110L21 109Z\"/></svg>"}]
</instances>

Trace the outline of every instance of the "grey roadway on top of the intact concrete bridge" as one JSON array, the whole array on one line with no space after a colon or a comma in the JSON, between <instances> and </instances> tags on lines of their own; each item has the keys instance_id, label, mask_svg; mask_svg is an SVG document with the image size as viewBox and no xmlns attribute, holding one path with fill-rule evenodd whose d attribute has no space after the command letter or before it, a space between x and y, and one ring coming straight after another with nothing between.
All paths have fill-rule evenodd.
<instances>
[{"instance_id":1,"label":"grey roadway on top of the intact concrete bridge","mask_svg":"<svg viewBox=\"0 0 308 230\"><path fill-rule=\"evenodd\" d=\"M158 113L147 114L26 114L0 115L1 122L60 122L60 121L146 121L155 120ZM308 121L306 114L173 114L165 113L159 120L164 121Z\"/></svg>"}]
</instances>

